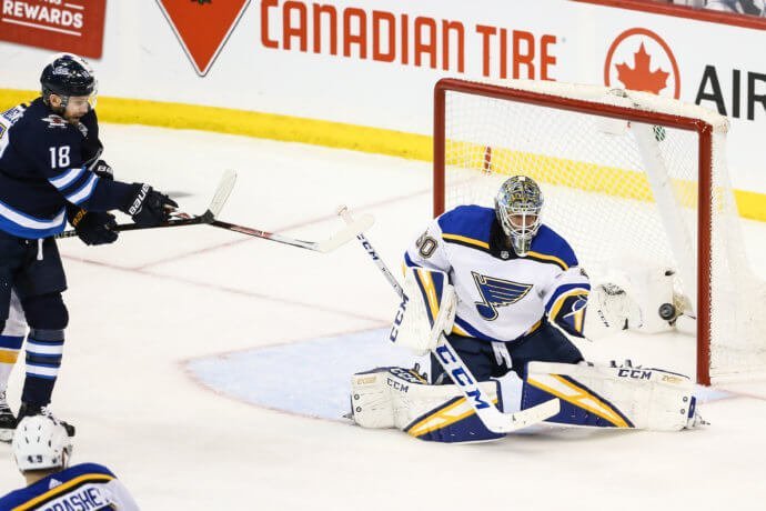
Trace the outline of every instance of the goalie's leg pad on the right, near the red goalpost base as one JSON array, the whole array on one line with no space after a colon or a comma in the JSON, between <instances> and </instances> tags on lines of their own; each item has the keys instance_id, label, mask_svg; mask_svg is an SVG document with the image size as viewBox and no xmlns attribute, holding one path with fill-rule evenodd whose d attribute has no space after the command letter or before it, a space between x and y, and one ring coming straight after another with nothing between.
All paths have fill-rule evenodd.
<instances>
[{"instance_id":1,"label":"goalie's leg pad on the right, near the red goalpost base","mask_svg":"<svg viewBox=\"0 0 766 511\"><path fill-rule=\"evenodd\" d=\"M521 408L552 397L562 410L548 422L596 428L678 431L696 425L693 383L659 369L532 362Z\"/></svg>"}]
</instances>

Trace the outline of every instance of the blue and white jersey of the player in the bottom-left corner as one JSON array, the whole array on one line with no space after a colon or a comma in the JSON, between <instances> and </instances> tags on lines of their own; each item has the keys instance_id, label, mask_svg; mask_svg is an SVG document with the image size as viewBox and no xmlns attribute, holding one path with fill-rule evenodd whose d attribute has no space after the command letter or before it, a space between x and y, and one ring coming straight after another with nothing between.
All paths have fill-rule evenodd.
<instances>
[{"instance_id":1,"label":"blue and white jersey of the player in the bottom-left corner","mask_svg":"<svg viewBox=\"0 0 766 511\"><path fill-rule=\"evenodd\" d=\"M81 463L48 475L0 499L3 511L133 511L139 507L105 467Z\"/></svg>"}]
</instances>

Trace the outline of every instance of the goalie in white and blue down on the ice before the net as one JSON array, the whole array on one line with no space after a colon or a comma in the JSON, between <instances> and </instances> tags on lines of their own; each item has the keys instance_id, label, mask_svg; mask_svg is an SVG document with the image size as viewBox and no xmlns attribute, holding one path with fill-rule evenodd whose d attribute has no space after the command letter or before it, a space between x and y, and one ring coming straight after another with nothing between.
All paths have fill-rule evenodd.
<instances>
[{"instance_id":1,"label":"goalie in white and blue down on the ice before the net","mask_svg":"<svg viewBox=\"0 0 766 511\"><path fill-rule=\"evenodd\" d=\"M453 382L434 348L444 339L484 393L504 413L551 399L550 423L678 431L704 423L693 381L629 363L595 365L571 338L597 338L626 328L662 331L654 302L673 303L669 280L652 280L649 298L625 284L592 290L566 240L541 223L543 193L524 176L506 180L495 208L461 206L431 222L407 249L403 300L390 340L417 355L431 352L429 373L377 368L352 378L353 420L397 428L422 440L486 441L488 430ZM654 309L657 311L657 309Z\"/></svg>"}]
</instances>

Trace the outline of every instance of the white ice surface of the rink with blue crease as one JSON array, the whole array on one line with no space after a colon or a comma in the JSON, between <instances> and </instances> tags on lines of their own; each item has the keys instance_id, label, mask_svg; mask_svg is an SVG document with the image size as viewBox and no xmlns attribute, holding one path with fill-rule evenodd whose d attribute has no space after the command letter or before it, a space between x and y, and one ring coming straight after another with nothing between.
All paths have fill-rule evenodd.
<instances>
[{"instance_id":1,"label":"white ice surface of the rink with blue crease","mask_svg":"<svg viewBox=\"0 0 766 511\"><path fill-rule=\"evenodd\" d=\"M191 212L204 209L232 168L239 181L223 220L320 240L342 227L333 217L339 204L372 213L367 236L394 269L430 218L425 163L191 131L102 130L119 179L188 193L179 201ZM763 277L766 226L745 228ZM110 247L71 239L60 248L71 322L53 409L78 427L73 461L109 465L143 509L759 510L766 501L764 383L707 403L703 415L713 425L705 430L546 430L487 444L432 444L274 410L286 408L281 381L286 399L342 408L322 371L339 374L355 362L370 369L390 349L377 351L371 339L385 333L396 297L360 247L319 254L188 227L127 232ZM682 337L582 348L594 360L627 357L684 371L694 364ZM264 407L203 383L199 369L211 360L242 363L238 354L259 349L269 357L256 358L249 379L228 382L268 397ZM225 367L216 368L221 381ZM290 381L298 377L302 385ZM0 490L20 487L4 444L0 464Z\"/></svg>"}]
</instances>

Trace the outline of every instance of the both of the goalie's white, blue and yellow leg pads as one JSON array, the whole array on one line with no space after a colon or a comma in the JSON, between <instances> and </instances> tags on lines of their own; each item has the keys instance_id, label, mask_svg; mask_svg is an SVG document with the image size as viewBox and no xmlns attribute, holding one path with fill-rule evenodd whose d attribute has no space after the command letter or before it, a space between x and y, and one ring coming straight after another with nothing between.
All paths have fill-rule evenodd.
<instances>
[{"instance_id":1,"label":"both of the goalie's white, blue and yellow leg pads","mask_svg":"<svg viewBox=\"0 0 766 511\"><path fill-rule=\"evenodd\" d=\"M354 374L354 422L363 428L396 428L437 442L504 437L484 427L455 385L430 385L417 369L377 368ZM510 372L481 385L504 412L558 398L561 412L550 423L654 431L705 424L697 413L692 381L661 369L531 362L525 380Z\"/></svg>"}]
</instances>

